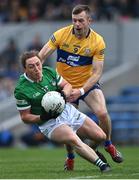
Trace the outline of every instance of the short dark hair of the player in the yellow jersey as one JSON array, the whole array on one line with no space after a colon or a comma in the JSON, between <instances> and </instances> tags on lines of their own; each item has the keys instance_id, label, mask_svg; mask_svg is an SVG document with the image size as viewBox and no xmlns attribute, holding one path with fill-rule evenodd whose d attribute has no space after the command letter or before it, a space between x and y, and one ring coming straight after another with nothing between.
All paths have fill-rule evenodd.
<instances>
[{"instance_id":1,"label":"short dark hair of the player in the yellow jersey","mask_svg":"<svg viewBox=\"0 0 139 180\"><path fill-rule=\"evenodd\" d=\"M72 10L72 14L80 14L82 11L85 11L89 17L91 16L91 9L88 5L84 4L78 4L77 6L75 6Z\"/></svg>"}]
</instances>

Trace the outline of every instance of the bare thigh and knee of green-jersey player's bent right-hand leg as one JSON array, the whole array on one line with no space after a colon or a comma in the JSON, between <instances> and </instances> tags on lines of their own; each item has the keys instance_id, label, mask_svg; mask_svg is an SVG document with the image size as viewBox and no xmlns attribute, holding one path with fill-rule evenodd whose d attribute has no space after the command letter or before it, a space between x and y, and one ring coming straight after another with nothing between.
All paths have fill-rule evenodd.
<instances>
[{"instance_id":1,"label":"bare thigh and knee of green-jersey player's bent right-hand leg","mask_svg":"<svg viewBox=\"0 0 139 180\"><path fill-rule=\"evenodd\" d=\"M78 129L77 135L91 140L105 140L106 135L103 130L89 117L86 117L83 125Z\"/></svg>"}]
</instances>

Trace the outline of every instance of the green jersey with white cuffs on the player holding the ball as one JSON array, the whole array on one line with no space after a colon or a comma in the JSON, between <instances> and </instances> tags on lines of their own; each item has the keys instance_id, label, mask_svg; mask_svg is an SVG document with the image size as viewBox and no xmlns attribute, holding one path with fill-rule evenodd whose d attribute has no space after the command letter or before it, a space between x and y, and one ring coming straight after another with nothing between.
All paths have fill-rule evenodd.
<instances>
[{"instance_id":1,"label":"green jersey with white cuffs on the player holding the ball","mask_svg":"<svg viewBox=\"0 0 139 180\"><path fill-rule=\"evenodd\" d=\"M31 108L31 113L39 115L41 113L41 100L48 91L59 90L62 77L50 67L43 67L42 81L34 82L26 74L20 76L16 85L14 96L18 110Z\"/></svg>"}]
</instances>

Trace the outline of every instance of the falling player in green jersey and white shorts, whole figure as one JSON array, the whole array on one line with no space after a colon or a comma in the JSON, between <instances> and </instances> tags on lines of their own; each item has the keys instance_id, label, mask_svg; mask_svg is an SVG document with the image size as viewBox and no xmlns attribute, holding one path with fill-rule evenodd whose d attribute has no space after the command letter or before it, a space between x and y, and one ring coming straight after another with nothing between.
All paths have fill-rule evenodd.
<instances>
[{"instance_id":1,"label":"falling player in green jersey and white shorts, whole figure","mask_svg":"<svg viewBox=\"0 0 139 180\"><path fill-rule=\"evenodd\" d=\"M71 85L51 68L42 68L37 52L25 52L21 60L25 73L21 75L14 95L22 121L37 123L40 131L49 139L70 145L81 157L98 166L101 172L109 171L108 164L77 135L84 132L84 136L92 141L99 143L105 140L105 133L95 122L70 103L66 103L64 110L56 118L48 118L47 113L41 111L41 100L47 91L61 88L65 96L69 97L72 93Z\"/></svg>"}]
</instances>

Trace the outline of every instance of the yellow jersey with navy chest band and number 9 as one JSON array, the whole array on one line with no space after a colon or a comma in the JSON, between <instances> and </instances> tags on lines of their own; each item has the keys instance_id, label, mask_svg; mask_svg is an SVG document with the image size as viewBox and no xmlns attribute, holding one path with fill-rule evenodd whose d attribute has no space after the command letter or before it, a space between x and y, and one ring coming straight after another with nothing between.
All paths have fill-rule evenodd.
<instances>
[{"instance_id":1,"label":"yellow jersey with navy chest band and number 9","mask_svg":"<svg viewBox=\"0 0 139 180\"><path fill-rule=\"evenodd\" d=\"M57 49L57 71L73 88L82 87L91 77L94 61L104 61L104 40L91 28L85 38L78 39L73 25L67 26L56 31L48 45Z\"/></svg>"}]
</instances>

